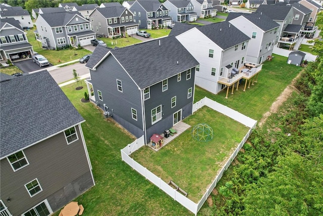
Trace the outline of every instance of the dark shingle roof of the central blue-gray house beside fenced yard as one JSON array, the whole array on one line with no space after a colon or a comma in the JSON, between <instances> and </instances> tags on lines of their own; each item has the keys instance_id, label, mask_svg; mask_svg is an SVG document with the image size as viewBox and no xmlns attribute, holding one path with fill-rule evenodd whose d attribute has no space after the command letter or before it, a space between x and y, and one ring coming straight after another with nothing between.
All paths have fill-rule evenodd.
<instances>
[{"instance_id":1,"label":"dark shingle roof of the central blue-gray house beside fenced yard","mask_svg":"<svg viewBox=\"0 0 323 216\"><path fill-rule=\"evenodd\" d=\"M119 61L140 89L199 64L175 37L168 36L113 50L97 46L86 67L95 69L102 56L109 54Z\"/></svg>"}]
</instances>

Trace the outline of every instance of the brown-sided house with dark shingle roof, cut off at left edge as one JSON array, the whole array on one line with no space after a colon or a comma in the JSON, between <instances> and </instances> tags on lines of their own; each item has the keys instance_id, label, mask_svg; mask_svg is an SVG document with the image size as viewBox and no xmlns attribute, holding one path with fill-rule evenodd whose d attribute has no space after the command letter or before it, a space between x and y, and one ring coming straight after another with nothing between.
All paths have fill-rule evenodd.
<instances>
[{"instance_id":1,"label":"brown-sided house with dark shingle roof, cut off at left edge","mask_svg":"<svg viewBox=\"0 0 323 216\"><path fill-rule=\"evenodd\" d=\"M0 215L50 215L94 186L85 120L46 70L0 81Z\"/></svg>"}]
</instances>

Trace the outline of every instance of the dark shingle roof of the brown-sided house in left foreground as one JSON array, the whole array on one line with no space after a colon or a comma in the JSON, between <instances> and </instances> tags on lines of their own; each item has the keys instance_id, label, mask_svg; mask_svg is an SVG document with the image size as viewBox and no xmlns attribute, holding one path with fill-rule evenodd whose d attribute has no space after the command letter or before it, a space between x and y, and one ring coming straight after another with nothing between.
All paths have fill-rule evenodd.
<instances>
[{"instance_id":1,"label":"dark shingle roof of the brown-sided house in left foreground","mask_svg":"<svg viewBox=\"0 0 323 216\"><path fill-rule=\"evenodd\" d=\"M0 158L84 121L46 70L2 81L0 90Z\"/></svg>"}]
</instances>

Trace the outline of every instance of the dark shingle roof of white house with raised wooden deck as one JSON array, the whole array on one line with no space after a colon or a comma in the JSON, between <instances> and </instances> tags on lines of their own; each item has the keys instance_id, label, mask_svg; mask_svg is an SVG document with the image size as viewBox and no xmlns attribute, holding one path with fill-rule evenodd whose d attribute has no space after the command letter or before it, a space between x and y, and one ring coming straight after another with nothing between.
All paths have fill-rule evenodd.
<instances>
[{"instance_id":1,"label":"dark shingle roof of white house with raised wooden deck","mask_svg":"<svg viewBox=\"0 0 323 216\"><path fill-rule=\"evenodd\" d=\"M250 39L250 37L245 35L228 21L199 26L197 29L223 50Z\"/></svg>"}]
</instances>

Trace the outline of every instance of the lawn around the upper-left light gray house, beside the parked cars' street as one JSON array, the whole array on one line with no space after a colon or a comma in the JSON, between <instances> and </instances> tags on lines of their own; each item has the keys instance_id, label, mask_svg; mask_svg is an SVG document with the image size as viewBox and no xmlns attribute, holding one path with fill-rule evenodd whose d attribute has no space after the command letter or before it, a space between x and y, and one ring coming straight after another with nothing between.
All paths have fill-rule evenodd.
<instances>
[{"instance_id":1,"label":"lawn around the upper-left light gray house, beside the parked cars' street","mask_svg":"<svg viewBox=\"0 0 323 216\"><path fill-rule=\"evenodd\" d=\"M82 58L82 56L91 53L90 51L85 49L65 49L60 51L45 50L41 47L41 42L36 40L34 30L35 28L27 31L27 38L29 43L32 45L34 52L46 57L48 61L53 65L58 65L72 60L80 59Z\"/></svg>"}]
</instances>

